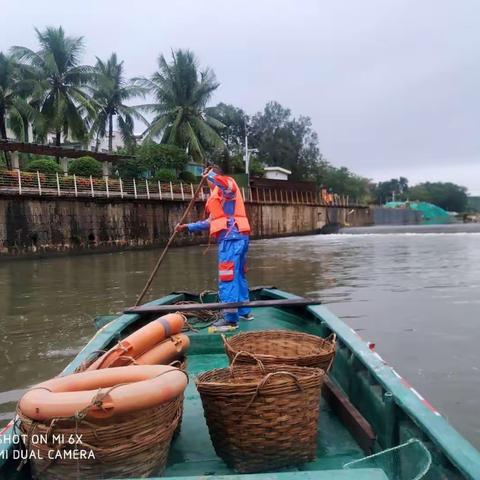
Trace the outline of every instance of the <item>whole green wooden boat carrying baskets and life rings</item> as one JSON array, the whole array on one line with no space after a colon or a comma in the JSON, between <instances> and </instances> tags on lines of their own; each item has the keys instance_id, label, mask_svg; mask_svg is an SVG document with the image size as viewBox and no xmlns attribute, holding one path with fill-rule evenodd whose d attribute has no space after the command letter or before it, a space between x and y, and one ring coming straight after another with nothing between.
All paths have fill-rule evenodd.
<instances>
[{"instance_id":1,"label":"whole green wooden boat carrying baskets and life rings","mask_svg":"<svg viewBox=\"0 0 480 480\"><path fill-rule=\"evenodd\" d=\"M296 299L274 288L251 290L252 300ZM148 305L199 301L173 293ZM202 299L209 302L214 297ZM65 368L72 373L96 350L105 350L152 319L152 314L97 318L98 331ZM343 321L322 305L262 307L240 331L290 329L326 337L337 335L337 355L322 395L317 460L279 472L239 475L218 458L210 442L202 404L190 382L182 430L174 440L162 478L212 476L226 480L307 479L480 479L480 453L441 414ZM220 335L200 329L191 335L190 376L228 365ZM0 433L11 435L11 426ZM2 437L0 437L2 438ZM28 479L28 465L17 471L13 444L0 441L0 478Z\"/></svg>"}]
</instances>

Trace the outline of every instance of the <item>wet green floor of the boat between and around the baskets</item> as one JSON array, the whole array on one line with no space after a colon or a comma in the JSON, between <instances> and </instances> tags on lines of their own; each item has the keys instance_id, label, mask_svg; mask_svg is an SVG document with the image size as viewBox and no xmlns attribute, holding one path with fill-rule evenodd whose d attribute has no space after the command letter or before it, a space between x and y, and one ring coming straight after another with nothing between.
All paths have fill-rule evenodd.
<instances>
[{"instance_id":1,"label":"wet green floor of the boat between and around the baskets","mask_svg":"<svg viewBox=\"0 0 480 480\"><path fill-rule=\"evenodd\" d=\"M296 323L292 320L295 319ZM274 308L262 308L255 311L255 320L241 322L239 331L266 330L272 328L313 331L315 326L305 322L305 326L298 324L298 317ZM195 388L194 377L199 373L214 368L228 366L227 356L222 352L218 334L208 334L206 330L192 333L192 348L188 355L188 373L190 383L185 392L184 414L181 432L173 441L169 462L164 476L194 476L194 475L226 475L234 473L216 455L210 441L208 428L203 415L202 402ZM217 342L218 340L218 342ZM196 353L196 345L217 345L212 348L213 353ZM217 351L219 353L217 353ZM363 452L329 408L325 401L321 401L319 434L317 439L317 460L299 467L287 468L284 471L315 471L341 469L342 466L354 459L362 458Z\"/></svg>"}]
</instances>

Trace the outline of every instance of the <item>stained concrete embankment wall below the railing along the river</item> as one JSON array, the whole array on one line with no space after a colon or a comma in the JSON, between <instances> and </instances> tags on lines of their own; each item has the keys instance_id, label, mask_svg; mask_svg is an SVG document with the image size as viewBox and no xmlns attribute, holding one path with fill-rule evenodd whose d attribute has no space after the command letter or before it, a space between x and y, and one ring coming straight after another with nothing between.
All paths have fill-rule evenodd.
<instances>
[{"instance_id":1,"label":"stained concrete embankment wall below the railing along the river","mask_svg":"<svg viewBox=\"0 0 480 480\"><path fill-rule=\"evenodd\" d=\"M0 257L113 251L164 245L187 202L0 197ZM254 238L306 235L374 223L372 209L247 203ZM198 202L190 221L203 218ZM206 242L178 235L177 245Z\"/></svg>"}]
</instances>

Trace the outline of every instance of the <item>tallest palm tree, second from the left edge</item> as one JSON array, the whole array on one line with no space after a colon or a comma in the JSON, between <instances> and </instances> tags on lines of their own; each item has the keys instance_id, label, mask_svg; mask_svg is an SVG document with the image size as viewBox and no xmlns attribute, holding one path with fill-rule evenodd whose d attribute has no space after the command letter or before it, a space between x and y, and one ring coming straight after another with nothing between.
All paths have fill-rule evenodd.
<instances>
[{"instance_id":1,"label":"tallest palm tree, second from the left edge","mask_svg":"<svg viewBox=\"0 0 480 480\"><path fill-rule=\"evenodd\" d=\"M12 52L37 75L32 92L32 103L40 112L34 124L36 133L45 138L48 132L54 132L57 146L62 134L64 138L83 141L88 131L87 118L94 114L91 98L84 89L92 69L79 64L83 38L65 36L62 27L35 31L39 51L16 46Z\"/></svg>"}]
</instances>

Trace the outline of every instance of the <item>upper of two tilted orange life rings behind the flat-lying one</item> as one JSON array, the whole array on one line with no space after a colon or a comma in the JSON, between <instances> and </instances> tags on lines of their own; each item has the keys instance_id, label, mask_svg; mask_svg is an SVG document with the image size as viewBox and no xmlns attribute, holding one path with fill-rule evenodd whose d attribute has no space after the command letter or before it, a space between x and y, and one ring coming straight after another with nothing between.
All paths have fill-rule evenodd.
<instances>
[{"instance_id":1,"label":"upper of two tilted orange life rings behind the flat-lying one","mask_svg":"<svg viewBox=\"0 0 480 480\"><path fill-rule=\"evenodd\" d=\"M87 370L128 365L132 358L142 355L171 335L180 333L184 325L184 317L179 313L169 313L159 317L118 342L95 360Z\"/></svg>"}]
</instances>

